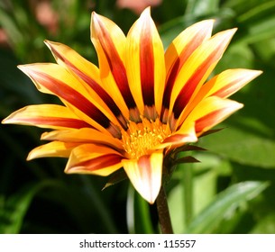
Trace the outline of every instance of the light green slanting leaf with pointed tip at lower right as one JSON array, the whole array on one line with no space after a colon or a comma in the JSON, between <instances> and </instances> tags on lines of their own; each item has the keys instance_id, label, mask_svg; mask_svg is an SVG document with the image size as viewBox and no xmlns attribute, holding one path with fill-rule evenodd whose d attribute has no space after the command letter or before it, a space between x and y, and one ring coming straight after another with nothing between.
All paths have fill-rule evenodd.
<instances>
[{"instance_id":1,"label":"light green slanting leaf with pointed tip at lower right","mask_svg":"<svg viewBox=\"0 0 275 252\"><path fill-rule=\"evenodd\" d=\"M243 202L255 198L269 184L266 182L247 181L233 184L222 193L219 193L197 217L191 221L187 233L211 233L226 218L226 215L234 214Z\"/></svg>"}]
</instances>

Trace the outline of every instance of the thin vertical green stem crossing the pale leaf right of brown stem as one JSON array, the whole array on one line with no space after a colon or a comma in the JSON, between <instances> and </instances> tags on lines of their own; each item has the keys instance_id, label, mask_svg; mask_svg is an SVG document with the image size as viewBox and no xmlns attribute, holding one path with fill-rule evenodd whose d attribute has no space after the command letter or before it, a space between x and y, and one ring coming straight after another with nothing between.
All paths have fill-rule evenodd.
<instances>
[{"instance_id":1,"label":"thin vertical green stem crossing the pale leaf right of brown stem","mask_svg":"<svg viewBox=\"0 0 275 252\"><path fill-rule=\"evenodd\" d=\"M186 225L193 217L193 167L191 164L184 167L183 172L184 209Z\"/></svg>"}]
</instances>

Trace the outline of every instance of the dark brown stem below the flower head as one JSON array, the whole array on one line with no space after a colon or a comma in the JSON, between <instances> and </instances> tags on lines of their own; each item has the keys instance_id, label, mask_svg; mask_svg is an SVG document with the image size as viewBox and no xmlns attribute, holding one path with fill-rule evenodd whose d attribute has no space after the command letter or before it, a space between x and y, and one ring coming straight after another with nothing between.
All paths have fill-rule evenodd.
<instances>
[{"instance_id":1,"label":"dark brown stem below the flower head","mask_svg":"<svg viewBox=\"0 0 275 252\"><path fill-rule=\"evenodd\" d=\"M157 197L157 210L159 214L160 229L162 234L172 234L173 228L170 220L168 202L163 185L160 187L160 193Z\"/></svg>"}]
</instances>

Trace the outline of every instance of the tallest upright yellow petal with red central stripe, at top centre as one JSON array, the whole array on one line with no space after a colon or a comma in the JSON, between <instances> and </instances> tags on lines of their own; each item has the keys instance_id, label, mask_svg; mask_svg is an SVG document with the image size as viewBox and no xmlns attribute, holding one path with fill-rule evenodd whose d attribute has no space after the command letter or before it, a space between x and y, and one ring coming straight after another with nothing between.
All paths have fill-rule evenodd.
<instances>
[{"instance_id":1,"label":"tallest upright yellow petal with red central stripe, at top centre","mask_svg":"<svg viewBox=\"0 0 275 252\"><path fill-rule=\"evenodd\" d=\"M165 80L164 49L150 8L141 14L127 35L126 69L133 98L148 119L160 114ZM153 107L153 108L151 108Z\"/></svg>"}]
</instances>

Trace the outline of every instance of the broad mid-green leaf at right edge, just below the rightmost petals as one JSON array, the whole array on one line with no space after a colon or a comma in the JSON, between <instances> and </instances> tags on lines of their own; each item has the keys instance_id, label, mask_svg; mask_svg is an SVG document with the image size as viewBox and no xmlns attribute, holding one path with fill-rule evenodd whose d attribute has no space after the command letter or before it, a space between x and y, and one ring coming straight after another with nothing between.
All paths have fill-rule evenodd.
<instances>
[{"instance_id":1,"label":"broad mid-green leaf at right edge, just below the rightmost petals","mask_svg":"<svg viewBox=\"0 0 275 252\"><path fill-rule=\"evenodd\" d=\"M201 139L200 145L240 164L274 168L275 141L268 137L270 129L245 117L239 118L238 124L229 124L227 129ZM264 129L266 136L261 133Z\"/></svg>"}]
</instances>

